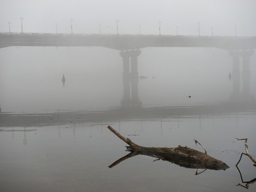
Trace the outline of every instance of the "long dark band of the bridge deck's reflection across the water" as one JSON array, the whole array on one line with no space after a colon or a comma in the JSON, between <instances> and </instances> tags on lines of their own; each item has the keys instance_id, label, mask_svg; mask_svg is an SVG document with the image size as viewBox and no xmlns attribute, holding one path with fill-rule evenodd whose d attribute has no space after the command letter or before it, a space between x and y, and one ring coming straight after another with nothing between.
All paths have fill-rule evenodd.
<instances>
[{"instance_id":1,"label":"long dark band of the bridge deck's reflection across the water","mask_svg":"<svg viewBox=\"0 0 256 192\"><path fill-rule=\"evenodd\" d=\"M215 116L230 113L256 112L255 100L224 101L183 106L123 107L110 106L101 110L56 111L55 113L12 114L0 113L0 127L42 127L51 125L104 124L109 122L134 121L138 119L182 119L198 116Z\"/></svg>"}]
</instances>

